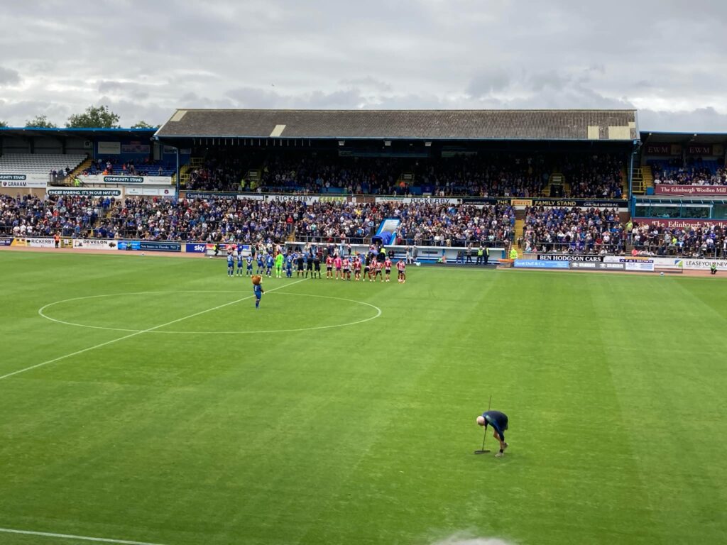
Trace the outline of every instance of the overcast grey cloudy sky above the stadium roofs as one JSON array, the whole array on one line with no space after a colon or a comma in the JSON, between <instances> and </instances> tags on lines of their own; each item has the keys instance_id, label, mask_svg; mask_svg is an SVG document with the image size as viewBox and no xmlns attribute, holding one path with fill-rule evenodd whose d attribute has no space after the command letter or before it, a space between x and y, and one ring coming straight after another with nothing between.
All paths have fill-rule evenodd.
<instances>
[{"instance_id":1,"label":"overcast grey cloudy sky above the stadium roofs","mask_svg":"<svg viewBox=\"0 0 727 545\"><path fill-rule=\"evenodd\" d=\"M727 1L4 0L0 121L175 108L638 108L727 132Z\"/></svg>"}]
</instances>

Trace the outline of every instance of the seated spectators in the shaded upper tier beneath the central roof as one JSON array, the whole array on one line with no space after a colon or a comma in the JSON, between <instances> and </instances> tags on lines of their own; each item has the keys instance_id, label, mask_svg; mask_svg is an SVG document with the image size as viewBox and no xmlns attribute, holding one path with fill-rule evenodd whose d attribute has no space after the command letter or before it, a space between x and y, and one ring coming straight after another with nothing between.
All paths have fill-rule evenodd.
<instances>
[{"instance_id":1,"label":"seated spectators in the shaded upper tier beneath the central roof","mask_svg":"<svg viewBox=\"0 0 727 545\"><path fill-rule=\"evenodd\" d=\"M261 166L262 165L262 166ZM245 180L252 167L260 180ZM615 156L497 153L448 158L339 157L328 152L215 156L190 170L188 188L261 193L547 196L550 175L561 171L570 195L622 198L624 163ZM256 169L257 169L256 168Z\"/></svg>"}]
</instances>

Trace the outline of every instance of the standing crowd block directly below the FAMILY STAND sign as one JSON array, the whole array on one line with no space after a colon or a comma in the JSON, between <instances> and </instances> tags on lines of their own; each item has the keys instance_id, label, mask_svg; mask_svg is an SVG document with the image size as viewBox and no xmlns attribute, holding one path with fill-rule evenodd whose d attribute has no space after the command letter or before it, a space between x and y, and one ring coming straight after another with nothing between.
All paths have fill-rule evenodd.
<instances>
[{"instance_id":1,"label":"standing crowd block directly below the FAMILY STAND sign","mask_svg":"<svg viewBox=\"0 0 727 545\"><path fill-rule=\"evenodd\" d=\"M624 226L616 209L531 206L518 245L533 253L622 254Z\"/></svg>"}]
</instances>

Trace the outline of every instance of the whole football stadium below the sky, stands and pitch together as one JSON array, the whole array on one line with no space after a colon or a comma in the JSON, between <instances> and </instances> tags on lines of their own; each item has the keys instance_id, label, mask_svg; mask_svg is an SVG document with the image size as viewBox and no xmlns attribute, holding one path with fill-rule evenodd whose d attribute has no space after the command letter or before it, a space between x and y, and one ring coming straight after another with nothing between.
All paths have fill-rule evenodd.
<instances>
[{"instance_id":1,"label":"whole football stadium below the sky, stands and pitch together","mask_svg":"<svg viewBox=\"0 0 727 545\"><path fill-rule=\"evenodd\" d=\"M0 543L727 542L726 144L636 110L0 129Z\"/></svg>"}]
</instances>

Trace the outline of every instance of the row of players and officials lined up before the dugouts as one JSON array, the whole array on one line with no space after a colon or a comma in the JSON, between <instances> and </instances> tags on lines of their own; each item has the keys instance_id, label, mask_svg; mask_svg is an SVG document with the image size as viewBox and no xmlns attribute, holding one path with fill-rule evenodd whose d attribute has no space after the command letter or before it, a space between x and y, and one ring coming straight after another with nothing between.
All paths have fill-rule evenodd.
<instances>
[{"instance_id":1,"label":"row of players and officials lined up before the dugouts","mask_svg":"<svg viewBox=\"0 0 727 545\"><path fill-rule=\"evenodd\" d=\"M243 257L242 247L237 246L236 248L228 248L227 255L228 262L228 276L243 276L243 267L245 269L244 276L252 276L254 265L257 265L255 270L256 275L267 276L268 278L273 277L273 270L275 271L276 278L283 278L283 272L285 271L286 278L293 278L293 270L296 272L298 278L321 278L321 254L308 254L307 252L288 251L286 255L281 252L276 252L275 257L273 254L262 252L257 253L257 257L248 255ZM235 271L235 264L237 263L237 272ZM373 254L367 254L366 257L362 257L361 254L356 254L352 257L340 257L339 255L329 255L326 257L326 278L328 280L351 280L351 274L353 272L353 280L362 280L366 282L375 282L377 279L381 282L389 282L391 280L391 269L393 262L385 257L384 259L377 259ZM397 278L400 283L406 282L406 262L403 259L399 259L396 262Z\"/></svg>"}]
</instances>

